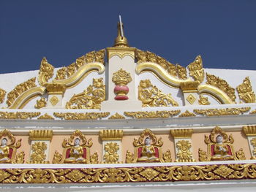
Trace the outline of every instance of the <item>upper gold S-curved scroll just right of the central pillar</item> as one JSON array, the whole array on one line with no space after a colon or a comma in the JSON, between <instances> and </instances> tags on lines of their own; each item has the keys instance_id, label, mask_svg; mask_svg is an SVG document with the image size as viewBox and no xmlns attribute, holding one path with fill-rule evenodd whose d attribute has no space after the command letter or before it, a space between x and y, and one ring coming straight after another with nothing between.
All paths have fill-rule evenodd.
<instances>
[{"instance_id":1,"label":"upper gold S-curved scroll just right of the central pillar","mask_svg":"<svg viewBox=\"0 0 256 192\"><path fill-rule=\"evenodd\" d=\"M171 85L176 88L180 87L181 82L192 81L190 78L188 78L187 80L179 80L176 77L168 74L168 72L165 71L162 66L159 66L159 64L154 64L151 62L141 63L137 65L135 72L137 74L140 74L143 71L153 72L157 75L157 77L159 77L160 80L167 83L167 85Z\"/></svg>"}]
</instances>

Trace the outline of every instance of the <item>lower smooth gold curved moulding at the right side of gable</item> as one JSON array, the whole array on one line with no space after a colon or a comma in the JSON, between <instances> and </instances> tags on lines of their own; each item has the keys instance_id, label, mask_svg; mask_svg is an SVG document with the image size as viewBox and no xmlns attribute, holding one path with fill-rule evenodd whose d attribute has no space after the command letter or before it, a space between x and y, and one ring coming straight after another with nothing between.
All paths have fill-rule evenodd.
<instances>
[{"instance_id":1,"label":"lower smooth gold curved moulding at the right side of gable","mask_svg":"<svg viewBox=\"0 0 256 192\"><path fill-rule=\"evenodd\" d=\"M221 104L234 104L235 102L230 99L227 94L216 88L212 85L198 85L197 87L198 93L208 93L209 95L213 96L214 99L217 99Z\"/></svg>"}]
</instances>

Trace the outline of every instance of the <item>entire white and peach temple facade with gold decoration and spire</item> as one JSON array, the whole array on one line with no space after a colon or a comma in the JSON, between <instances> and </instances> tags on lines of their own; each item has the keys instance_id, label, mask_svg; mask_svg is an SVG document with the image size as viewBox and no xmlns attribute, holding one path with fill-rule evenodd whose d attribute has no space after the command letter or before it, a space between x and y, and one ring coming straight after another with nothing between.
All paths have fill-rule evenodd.
<instances>
[{"instance_id":1,"label":"entire white and peach temple facade with gold decoration and spire","mask_svg":"<svg viewBox=\"0 0 256 192\"><path fill-rule=\"evenodd\" d=\"M256 71L112 47L0 74L0 191L255 191Z\"/></svg>"}]
</instances>

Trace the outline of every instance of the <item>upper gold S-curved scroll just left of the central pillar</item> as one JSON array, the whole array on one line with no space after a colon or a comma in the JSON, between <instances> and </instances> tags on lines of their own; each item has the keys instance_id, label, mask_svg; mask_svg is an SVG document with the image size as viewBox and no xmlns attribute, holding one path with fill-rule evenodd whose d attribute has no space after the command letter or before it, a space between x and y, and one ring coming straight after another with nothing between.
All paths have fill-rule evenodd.
<instances>
[{"instance_id":1,"label":"upper gold S-curved scroll just left of the central pillar","mask_svg":"<svg viewBox=\"0 0 256 192\"><path fill-rule=\"evenodd\" d=\"M83 80L89 73L98 72L102 74L105 71L105 66L99 62L85 64L71 77L64 80L53 80L54 83L64 84L66 88L72 88Z\"/></svg>"}]
</instances>

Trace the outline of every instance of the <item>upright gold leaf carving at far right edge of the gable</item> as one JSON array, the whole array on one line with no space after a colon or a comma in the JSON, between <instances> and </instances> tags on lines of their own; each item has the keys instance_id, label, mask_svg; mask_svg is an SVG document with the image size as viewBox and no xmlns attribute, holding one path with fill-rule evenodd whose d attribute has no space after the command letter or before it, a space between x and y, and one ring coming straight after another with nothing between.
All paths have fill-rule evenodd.
<instances>
[{"instance_id":1,"label":"upright gold leaf carving at far right edge of the gable","mask_svg":"<svg viewBox=\"0 0 256 192\"><path fill-rule=\"evenodd\" d=\"M246 103L255 103L256 96L255 93L252 91L251 81L249 77L245 77L243 83L236 87L238 91L238 96L240 99L244 100Z\"/></svg>"}]
</instances>

